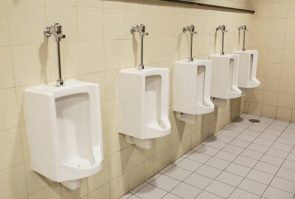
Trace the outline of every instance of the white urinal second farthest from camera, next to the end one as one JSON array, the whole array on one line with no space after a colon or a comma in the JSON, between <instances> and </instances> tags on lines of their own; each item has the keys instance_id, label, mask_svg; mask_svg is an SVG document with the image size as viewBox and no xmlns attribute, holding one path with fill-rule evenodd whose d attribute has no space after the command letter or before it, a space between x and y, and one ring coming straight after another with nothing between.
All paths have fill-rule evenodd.
<instances>
[{"instance_id":1,"label":"white urinal second farthest from camera, next to the end one","mask_svg":"<svg viewBox=\"0 0 295 199\"><path fill-rule=\"evenodd\" d=\"M212 61L211 97L217 107L225 107L227 99L241 97L237 87L239 55L210 55Z\"/></svg>"}]
</instances>

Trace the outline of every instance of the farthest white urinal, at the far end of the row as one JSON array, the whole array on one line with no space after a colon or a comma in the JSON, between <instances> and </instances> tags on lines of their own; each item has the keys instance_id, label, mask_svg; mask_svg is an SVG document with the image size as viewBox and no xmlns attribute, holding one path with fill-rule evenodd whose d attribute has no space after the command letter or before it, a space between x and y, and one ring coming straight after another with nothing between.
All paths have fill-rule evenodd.
<instances>
[{"instance_id":1,"label":"farthest white urinal, at the far end of the row","mask_svg":"<svg viewBox=\"0 0 295 199\"><path fill-rule=\"evenodd\" d=\"M238 81L237 87L242 91L242 95L247 94L248 88L260 86L260 81L256 78L257 71L257 50L234 51L239 55Z\"/></svg>"}]
</instances>

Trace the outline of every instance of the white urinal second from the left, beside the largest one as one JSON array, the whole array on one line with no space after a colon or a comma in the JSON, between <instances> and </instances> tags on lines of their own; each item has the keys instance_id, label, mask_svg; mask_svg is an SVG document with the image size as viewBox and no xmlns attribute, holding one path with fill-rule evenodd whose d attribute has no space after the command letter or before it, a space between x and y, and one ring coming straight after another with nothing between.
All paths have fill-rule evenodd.
<instances>
[{"instance_id":1,"label":"white urinal second from the left, beside the largest one","mask_svg":"<svg viewBox=\"0 0 295 199\"><path fill-rule=\"evenodd\" d=\"M118 72L119 133L141 148L171 132L169 69L128 68Z\"/></svg>"}]
</instances>

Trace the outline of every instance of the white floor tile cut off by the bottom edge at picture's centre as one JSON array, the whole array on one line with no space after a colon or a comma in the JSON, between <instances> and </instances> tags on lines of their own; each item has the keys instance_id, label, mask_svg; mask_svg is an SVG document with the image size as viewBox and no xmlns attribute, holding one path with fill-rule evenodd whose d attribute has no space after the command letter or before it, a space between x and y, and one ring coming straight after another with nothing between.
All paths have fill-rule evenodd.
<instances>
[{"instance_id":1,"label":"white floor tile cut off by the bottom edge at picture's centre","mask_svg":"<svg viewBox=\"0 0 295 199\"><path fill-rule=\"evenodd\" d=\"M139 192L135 193L135 195L141 199L161 199L166 194L167 194L167 192L165 192L157 187L154 187L150 184L145 186Z\"/></svg>"}]
</instances>

